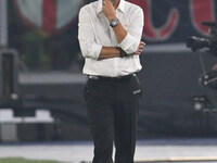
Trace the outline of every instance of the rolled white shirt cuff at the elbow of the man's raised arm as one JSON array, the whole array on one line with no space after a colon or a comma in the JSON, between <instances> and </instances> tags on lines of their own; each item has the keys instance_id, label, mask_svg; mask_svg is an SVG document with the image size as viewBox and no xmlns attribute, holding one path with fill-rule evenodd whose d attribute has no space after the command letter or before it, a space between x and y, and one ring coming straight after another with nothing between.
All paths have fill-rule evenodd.
<instances>
[{"instance_id":1,"label":"rolled white shirt cuff at the elbow of the man's raised arm","mask_svg":"<svg viewBox=\"0 0 217 163\"><path fill-rule=\"evenodd\" d=\"M127 34L124 40L119 43L119 47L127 53L132 54L136 50L133 48L135 39L132 36Z\"/></svg>"}]
</instances>

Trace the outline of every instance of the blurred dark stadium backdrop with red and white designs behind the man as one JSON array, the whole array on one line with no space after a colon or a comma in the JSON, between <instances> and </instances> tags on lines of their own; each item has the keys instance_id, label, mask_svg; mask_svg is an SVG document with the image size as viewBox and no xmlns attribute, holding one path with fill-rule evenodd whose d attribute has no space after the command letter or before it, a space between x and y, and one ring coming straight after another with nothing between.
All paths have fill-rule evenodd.
<instances>
[{"instance_id":1,"label":"blurred dark stadium backdrop with red and white designs behind the man","mask_svg":"<svg viewBox=\"0 0 217 163\"><path fill-rule=\"evenodd\" d=\"M0 0L0 141L90 140L77 40L93 0ZM216 64L189 36L209 37L216 0L128 0L144 11L138 138L216 137L217 93L199 85ZM217 53L216 53L217 54Z\"/></svg>"}]
</instances>

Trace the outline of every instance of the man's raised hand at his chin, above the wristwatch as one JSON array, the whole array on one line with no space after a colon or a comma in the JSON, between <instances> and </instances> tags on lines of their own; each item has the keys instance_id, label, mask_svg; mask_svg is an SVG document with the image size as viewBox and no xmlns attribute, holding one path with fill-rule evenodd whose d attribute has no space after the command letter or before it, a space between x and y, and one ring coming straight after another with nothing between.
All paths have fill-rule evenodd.
<instances>
[{"instance_id":1,"label":"man's raised hand at his chin, above the wristwatch","mask_svg":"<svg viewBox=\"0 0 217 163\"><path fill-rule=\"evenodd\" d=\"M102 12L104 13L105 17L111 22L116 17L116 11L114 5L112 4L111 0L103 0L103 8Z\"/></svg>"}]
</instances>

